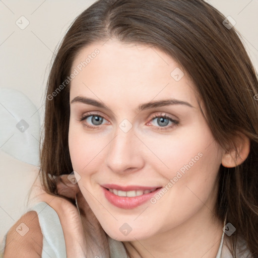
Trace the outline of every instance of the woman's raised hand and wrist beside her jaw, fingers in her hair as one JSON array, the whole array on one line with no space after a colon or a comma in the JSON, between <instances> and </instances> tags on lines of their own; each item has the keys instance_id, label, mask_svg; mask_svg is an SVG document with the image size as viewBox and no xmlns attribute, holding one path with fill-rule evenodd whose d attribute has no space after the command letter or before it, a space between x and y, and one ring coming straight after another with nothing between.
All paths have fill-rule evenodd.
<instances>
[{"instance_id":1,"label":"woman's raised hand and wrist beside her jaw, fingers in her hair","mask_svg":"<svg viewBox=\"0 0 258 258\"><path fill-rule=\"evenodd\" d=\"M66 242L67 257L109 258L107 235L83 197L78 184L73 184L68 175L59 176L57 193L61 197L46 193L37 177L30 195L30 203L46 202L56 211ZM73 204L75 200L78 208Z\"/></svg>"}]
</instances>

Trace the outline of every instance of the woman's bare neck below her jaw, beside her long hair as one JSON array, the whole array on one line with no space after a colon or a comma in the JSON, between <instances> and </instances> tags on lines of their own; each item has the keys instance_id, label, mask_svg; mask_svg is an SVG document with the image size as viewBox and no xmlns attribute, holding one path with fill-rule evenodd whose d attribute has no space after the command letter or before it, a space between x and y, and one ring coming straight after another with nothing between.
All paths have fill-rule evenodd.
<instances>
[{"instance_id":1,"label":"woman's bare neck below her jaw, beside her long hair","mask_svg":"<svg viewBox=\"0 0 258 258\"><path fill-rule=\"evenodd\" d=\"M211 211L204 206L176 228L147 239L124 242L124 246L130 258L214 258L221 242L223 224L214 221Z\"/></svg>"}]
</instances>

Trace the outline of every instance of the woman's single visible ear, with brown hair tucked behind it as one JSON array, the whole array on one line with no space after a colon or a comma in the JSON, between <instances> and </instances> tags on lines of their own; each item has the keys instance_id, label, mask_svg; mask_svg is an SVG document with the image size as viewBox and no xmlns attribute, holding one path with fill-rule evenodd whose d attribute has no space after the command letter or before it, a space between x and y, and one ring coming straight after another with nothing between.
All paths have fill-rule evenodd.
<instances>
[{"instance_id":1,"label":"woman's single visible ear, with brown hair tucked behind it","mask_svg":"<svg viewBox=\"0 0 258 258\"><path fill-rule=\"evenodd\" d=\"M234 141L234 148L225 150L221 164L224 167L236 167L243 163L250 152L250 140L241 134Z\"/></svg>"}]
</instances>

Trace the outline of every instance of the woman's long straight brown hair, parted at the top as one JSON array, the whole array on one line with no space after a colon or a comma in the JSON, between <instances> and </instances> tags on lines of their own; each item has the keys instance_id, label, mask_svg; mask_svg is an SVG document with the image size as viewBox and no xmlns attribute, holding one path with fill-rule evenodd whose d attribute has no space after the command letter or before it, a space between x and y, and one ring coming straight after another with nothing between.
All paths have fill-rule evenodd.
<instances>
[{"instance_id":1,"label":"woman's long straight brown hair, parted at the top","mask_svg":"<svg viewBox=\"0 0 258 258\"><path fill-rule=\"evenodd\" d=\"M110 37L155 46L174 58L195 83L210 130L223 148L235 146L239 134L250 140L250 153L241 165L220 167L215 215L223 221L227 213L227 221L236 228L232 243L242 237L257 257L258 82L236 30L226 28L224 19L202 0L100 0L78 16L59 46L48 78L40 150L46 190L55 194L55 176L73 171L68 146L70 85L48 96L71 74L78 52Z\"/></svg>"}]
</instances>

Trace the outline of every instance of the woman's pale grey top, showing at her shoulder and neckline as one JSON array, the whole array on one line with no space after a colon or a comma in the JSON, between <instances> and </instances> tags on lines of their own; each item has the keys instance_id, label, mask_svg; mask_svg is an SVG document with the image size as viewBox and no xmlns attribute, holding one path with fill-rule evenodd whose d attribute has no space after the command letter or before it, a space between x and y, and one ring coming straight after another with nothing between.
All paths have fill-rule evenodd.
<instances>
[{"instance_id":1,"label":"woman's pale grey top, showing at her shoulder and neckline","mask_svg":"<svg viewBox=\"0 0 258 258\"><path fill-rule=\"evenodd\" d=\"M43 235L43 249L42 249L41 258L67 257L66 243L64 241L61 223L56 211L45 202L37 203L28 211L36 211L38 214L39 224ZM225 222L224 222L224 225L225 225ZM3 249L0 253L0 257L3 257L3 254L4 254L7 234L8 232L5 234L5 237L3 239L3 243L2 243ZM225 232L223 231L219 250L215 258L233 257L230 254L227 246L223 244L225 242L224 238L225 238ZM110 258L129 258L126 254L126 251L122 242L116 241L108 236L108 244L109 244L109 250L110 250ZM252 258L252 256L247 251L242 256L239 256L239 258Z\"/></svg>"}]
</instances>

